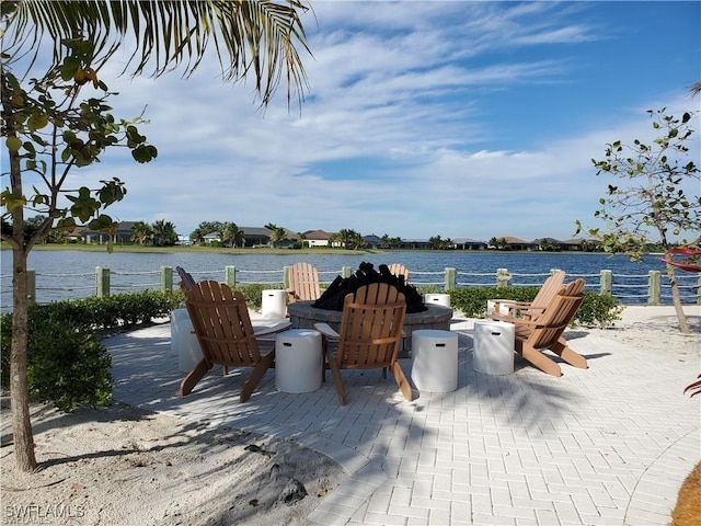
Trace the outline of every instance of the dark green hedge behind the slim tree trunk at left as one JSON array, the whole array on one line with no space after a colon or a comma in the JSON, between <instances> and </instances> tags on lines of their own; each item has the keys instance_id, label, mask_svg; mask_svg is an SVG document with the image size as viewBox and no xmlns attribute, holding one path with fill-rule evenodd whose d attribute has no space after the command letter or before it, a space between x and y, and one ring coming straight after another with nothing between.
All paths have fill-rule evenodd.
<instances>
[{"instance_id":1,"label":"dark green hedge behind the slim tree trunk at left","mask_svg":"<svg viewBox=\"0 0 701 526\"><path fill-rule=\"evenodd\" d=\"M33 401L61 411L112 400L111 357L99 335L166 318L184 300L179 291L146 290L108 298L33 305L28 309L27 381ZM0 381L9 386L12 315L0 317Z\"/></svg>"}]
</instances>

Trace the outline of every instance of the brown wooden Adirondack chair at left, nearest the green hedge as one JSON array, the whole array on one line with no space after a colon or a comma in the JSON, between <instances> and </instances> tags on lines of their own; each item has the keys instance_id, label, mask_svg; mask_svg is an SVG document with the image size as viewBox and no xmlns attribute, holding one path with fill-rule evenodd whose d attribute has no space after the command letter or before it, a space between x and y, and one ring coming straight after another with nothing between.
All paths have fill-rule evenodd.
<instances>
[{"instance_id":1,"label":"brown wooden Adirondack chair at left, nearest the green hedge","mask_svg":"<svg viewBox=\"0 0 701 526\"><path fill-rule=\"evenodd\" d=\"M221 365L225 375L229 367L251 367L253 371L240 392L241 402L245 402L275 361L275 341L258 339L288 329L291 323L280 322L254 331L243 294L210 281L195 283L189 289L181 282L181 287L203 354L203 359L181 382L181 396L188 395L215 365ZM267 354L261 352L262 347L268 350Z\"/></svg>"}]
</instances>

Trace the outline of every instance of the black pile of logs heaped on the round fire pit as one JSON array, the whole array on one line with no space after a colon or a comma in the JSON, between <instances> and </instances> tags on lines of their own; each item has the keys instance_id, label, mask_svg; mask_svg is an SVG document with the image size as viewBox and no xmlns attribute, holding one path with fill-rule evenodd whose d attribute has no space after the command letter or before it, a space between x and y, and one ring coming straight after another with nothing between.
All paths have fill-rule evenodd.
<instances>
[{"instance_id":1,"label":"black pile of logs heaped on the round fire pit","mask_svg":"<svg viewBox=\"0 0 701 526\"><path fill-rule=\"evenodd\" d=\"M406 299L407 315L428 310L416 287L407 285L402 274L395 276L384 264L380 265L378 272L372 263L360 263L358 270L350 277L337 276L312 306L318 309L342 311L346 295L355 293L359 287L370 283L388 283L399 288Z\"/></svg>"}]
</instances>

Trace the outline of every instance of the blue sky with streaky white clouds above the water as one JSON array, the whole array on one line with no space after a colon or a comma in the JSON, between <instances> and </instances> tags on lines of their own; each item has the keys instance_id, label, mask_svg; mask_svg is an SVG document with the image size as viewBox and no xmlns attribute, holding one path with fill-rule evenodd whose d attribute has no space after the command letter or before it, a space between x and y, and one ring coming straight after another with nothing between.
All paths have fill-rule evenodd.
<instances>
[{"instance_id":1,"label":"blue sky with streaky white clouds above the water","mask_svg":"<svg viewBox=\"0 0 701 526\"><path fill-rule=\"evenodd\" d=\"M607 144L653 138L647 110L700 110L698 1L311 5L301 107L281 87L262 111L253 79L225 83L214 53L188 79L119 77L117 57L100 73L119 92L114 114L145 112L159 156L137 164L116 148L69 183L119 178L113 218L165 219L184 236L218 220L564 240L577 219L599 226L618 182L591 163Z\"/></svg>"}]
</instances>

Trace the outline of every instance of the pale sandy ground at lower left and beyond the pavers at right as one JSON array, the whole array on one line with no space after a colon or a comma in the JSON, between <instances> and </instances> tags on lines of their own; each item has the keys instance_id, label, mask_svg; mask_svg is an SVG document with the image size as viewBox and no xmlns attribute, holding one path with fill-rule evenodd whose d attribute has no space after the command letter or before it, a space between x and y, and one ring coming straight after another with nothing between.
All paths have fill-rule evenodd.
<instances>
[{"instance_id":1,"label":"pale sandy ground at lower left and beyond the pavers at right","mask_svg":"<svg viewBox=\"0 0 701 526\"><path fill-rule=\"evenodd\" d=\"M699 353L701 308L689 310L691 335L679 333L669 309L636 309L613 329L583 330L637 347ZM294 442L119 403L71 414L37 405L32 423L39 468L23 473L14 468L3 400L0 524L301 525L347 477Z\"/></svg>"}]
</instances>

